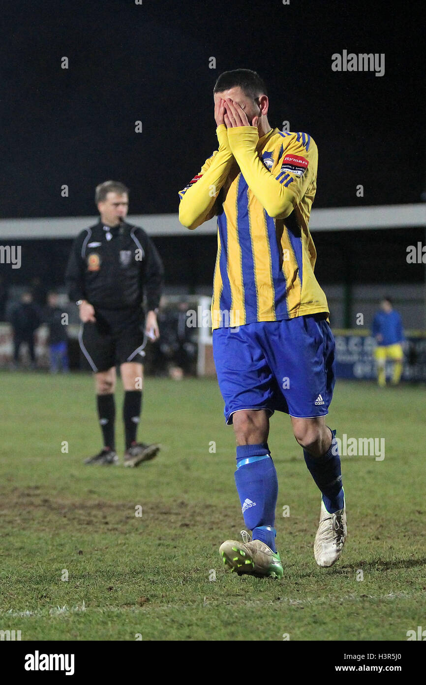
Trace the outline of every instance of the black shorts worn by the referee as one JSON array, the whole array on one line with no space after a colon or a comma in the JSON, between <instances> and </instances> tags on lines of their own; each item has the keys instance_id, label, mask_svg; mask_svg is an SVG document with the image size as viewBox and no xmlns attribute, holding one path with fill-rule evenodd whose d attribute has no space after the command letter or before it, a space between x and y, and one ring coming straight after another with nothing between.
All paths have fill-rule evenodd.
<instances>
[{"instance_id":1,"label":"black shorts worn by the referee","mask_svg":"<svg viewBox=\"0 0 426 685\"><path fill-rule=\"evenodd\" d=\"M107 371L125 362L144 362L144 312L142 308L104 310L95 308L96 323L80 327L79 343L92 371Z\"/></svg>"}]
</instances>

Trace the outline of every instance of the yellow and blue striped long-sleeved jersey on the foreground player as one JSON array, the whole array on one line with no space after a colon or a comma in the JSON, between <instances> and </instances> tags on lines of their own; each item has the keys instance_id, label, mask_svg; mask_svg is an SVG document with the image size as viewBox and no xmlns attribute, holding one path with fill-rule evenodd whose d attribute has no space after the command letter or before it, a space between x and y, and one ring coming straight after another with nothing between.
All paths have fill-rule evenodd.
<instances>
[{"instance_id":1,"label":"yellow and blue striped long-sleeved jersey on the foreground player","mask_svg":"<svg viewBox=\"0 0 426 685\"><path fill-rule=\"evenodd\" d=\"M306 133L217 128L215 151L179 195L195 228L217 214L213 329L328 313L314 275L309 215L318 151Z\"/></svg>"}]
</instances>

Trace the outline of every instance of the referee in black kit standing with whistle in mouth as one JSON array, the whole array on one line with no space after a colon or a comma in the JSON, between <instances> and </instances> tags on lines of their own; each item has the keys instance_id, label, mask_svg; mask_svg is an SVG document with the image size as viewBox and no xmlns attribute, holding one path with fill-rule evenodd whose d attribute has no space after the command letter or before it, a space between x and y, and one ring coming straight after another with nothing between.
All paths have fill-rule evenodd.
<instances>
[{"instance_id":1,"label":"referee in black kit standing with whistle in mouth","mask_svg":"<svg viewBox=\"0 0 426 685\"><path fill-rule=\"evenodd\" d=\"M163 264L144 229L126 221L129 189L116 181L96 188L98 223L77 236L66 269L70 300L81 319L79 343L94 371L104 447L85 464L117 464L114 421L116 366L124 386L124 466L154 458L159 445L137 443L142 366L147 339L157 340ZM142 301L146 297L146 311Z\"/></svg>"}]
</instances>

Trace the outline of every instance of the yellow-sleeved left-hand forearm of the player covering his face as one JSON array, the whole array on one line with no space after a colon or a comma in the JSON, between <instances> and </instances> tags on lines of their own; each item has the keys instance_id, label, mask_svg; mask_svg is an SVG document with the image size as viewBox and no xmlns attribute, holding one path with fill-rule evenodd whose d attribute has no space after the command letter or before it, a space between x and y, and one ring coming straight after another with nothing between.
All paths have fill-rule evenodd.
<instances>
[{"instance_id":1,"label":"yellow-sleeved left-hand forearm of the player covering his face","mask_svg":"<svg viewBox=\"0 0 426 685\"><path fill-rule=\"evenodd\" d=\"M219 190L224 185L232 166L232 152L228 140L221 127L217 129L219 150L211 162L209 169L191 188L185 192L179 205L179 221L189 229L200 226L207 220L217 199Z\"/></svg>"}]
</instances>

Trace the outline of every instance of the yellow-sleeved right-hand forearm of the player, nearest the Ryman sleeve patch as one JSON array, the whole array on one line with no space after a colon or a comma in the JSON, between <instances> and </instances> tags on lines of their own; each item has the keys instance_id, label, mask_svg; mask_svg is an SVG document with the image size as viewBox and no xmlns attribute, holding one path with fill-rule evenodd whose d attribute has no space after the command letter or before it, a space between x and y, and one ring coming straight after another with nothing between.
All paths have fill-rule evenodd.
<instances>
[{"instance_id":1,"label":"yellow-sleeved right-hand forearm of the player, nearest the Ryman sleeve patch","mask_svg":"<svg viewBox=\"0 0 426 685\"><path fill-rule=\"evenodd\" d=\"M254 126L228 129L232 153L250 190L265 208L269 216L285 219L301 199L299 192L285 188L268 171L256 151L258 132Z\"/></svg>"}]
</instances>

